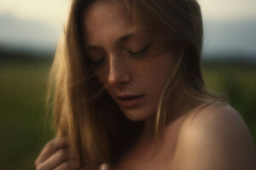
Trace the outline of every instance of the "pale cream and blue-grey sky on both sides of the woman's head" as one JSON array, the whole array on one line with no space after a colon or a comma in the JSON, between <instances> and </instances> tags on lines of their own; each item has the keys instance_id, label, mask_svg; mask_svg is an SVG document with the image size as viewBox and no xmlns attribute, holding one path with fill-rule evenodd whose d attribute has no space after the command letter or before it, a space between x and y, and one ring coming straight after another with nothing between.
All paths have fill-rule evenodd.
<instances>
[{"instance_id":1,"label":"pale cream and blue-grey sky on both sides of the woman's head","mask_svg":"<svg viewBox=\"0 0 256 170\"><path fill-rule=\"evenodd\" d=\"M55 48L71 0L0 0L0 46ZM256 56L256 0L198 0L205 53Z\"/></svg>"}]
</instances>

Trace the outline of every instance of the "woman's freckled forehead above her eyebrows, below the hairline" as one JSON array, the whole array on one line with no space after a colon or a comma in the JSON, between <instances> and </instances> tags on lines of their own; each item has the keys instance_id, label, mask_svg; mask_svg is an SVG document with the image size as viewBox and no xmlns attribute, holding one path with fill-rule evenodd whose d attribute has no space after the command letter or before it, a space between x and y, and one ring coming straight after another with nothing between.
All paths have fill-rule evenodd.
<instances>
[{"instance_id":1,"label":"woman's freckled forehead above her eyebrows, below the hairline","mask_svg":"<svg viewBox=\"0 0 256 170\"><path fill-rule=\"evenodd\" d=\"M142 26L135 24L124 3L97 1L84 11L84 33L89 42L108 37L122 37Z\"/></svg>"}]
</instances>

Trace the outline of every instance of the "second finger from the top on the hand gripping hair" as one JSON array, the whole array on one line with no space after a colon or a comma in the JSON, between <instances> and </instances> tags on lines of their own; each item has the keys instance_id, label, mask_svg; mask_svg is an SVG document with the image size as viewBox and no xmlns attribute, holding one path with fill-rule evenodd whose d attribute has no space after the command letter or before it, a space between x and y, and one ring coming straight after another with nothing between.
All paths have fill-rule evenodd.
<instances>
[{"instance_id":1,"label":"second finger from the top on the hand gripping hair","mask_svg":"<svg viewBox=\"0 0 256 170\"><path fill-rule=\"evenodd\" d=\"M52 156L49 156L46 161L40 163L38 165L38 169L54 169L55 167L61 165L61 163L70 160L70 158L70 150L57 150Z\"/></svg>"}]
</instances>

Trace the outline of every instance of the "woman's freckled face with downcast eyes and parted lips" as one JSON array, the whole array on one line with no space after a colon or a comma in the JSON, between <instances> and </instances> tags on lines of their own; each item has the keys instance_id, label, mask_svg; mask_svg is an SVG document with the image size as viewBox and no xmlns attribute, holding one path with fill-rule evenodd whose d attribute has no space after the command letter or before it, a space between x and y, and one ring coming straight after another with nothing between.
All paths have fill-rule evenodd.
<instances>
[{"instance_id":1,"label":"woman's freckled face with downcast eyes and parted lips","mask_svg":"<svg viewBox=\"0 0 256 170\"><path fill-rule=\"evenodd\" d=\"M174 53L134 24L118 2L93 3L84 13L83 24L85 51L108 94L129 119L152 116L172 75Z\"/></svg>"}]
</instances>

